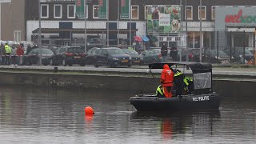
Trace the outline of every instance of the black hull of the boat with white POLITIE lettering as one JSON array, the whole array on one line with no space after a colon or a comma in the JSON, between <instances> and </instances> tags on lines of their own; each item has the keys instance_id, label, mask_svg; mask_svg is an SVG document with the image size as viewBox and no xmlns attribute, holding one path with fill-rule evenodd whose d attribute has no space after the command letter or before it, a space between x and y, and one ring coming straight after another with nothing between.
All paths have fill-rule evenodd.
<instances>
[{"instance_id":1,"label":"black hull of the boat with white POLITIE lettering","mask_svg":"<svg viewBox=\"0 0 256 144\"><path fill-rule=\"evenodd\" d=\"M218 110L218 94L184 95L174 98L158 98L152 95L139 95L130 98L130 104L138 111L171 110Z\"/></svg>"}]
</instances>

